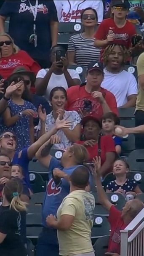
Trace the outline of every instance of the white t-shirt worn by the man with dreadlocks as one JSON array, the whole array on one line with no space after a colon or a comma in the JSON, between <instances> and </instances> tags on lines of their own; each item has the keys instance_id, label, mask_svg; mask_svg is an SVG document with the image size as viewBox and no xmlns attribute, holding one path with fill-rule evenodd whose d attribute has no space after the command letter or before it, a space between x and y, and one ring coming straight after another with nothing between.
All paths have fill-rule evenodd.
<instances>
[{"instance_id":1,"label":"white t-shirt worn by the man with dreadlocks","mask_svg":"<svg viewBox=\"0 0 144 256\"><path fill-rule=\"evenodd\" d=\"M114 74L104 69L104 81L101 83L101 87L115 95L117 107L123 106L128 102L128 96L138 92L136 78L125 70Z\"/></svg>"}]
</instances>

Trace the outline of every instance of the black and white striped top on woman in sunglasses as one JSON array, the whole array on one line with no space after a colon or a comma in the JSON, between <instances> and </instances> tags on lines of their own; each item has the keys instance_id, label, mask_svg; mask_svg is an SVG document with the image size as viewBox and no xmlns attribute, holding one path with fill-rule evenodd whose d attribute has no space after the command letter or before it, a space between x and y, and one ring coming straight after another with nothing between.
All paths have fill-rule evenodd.
<instances>
[{"instance_id":1,"label":"black and white striped top on woman in sunglasses","mask_svg":"<svg viewBox=\"0 0 144 256\"><path fill-rule=\"evenodd\" d=\"M94 40L84 38L81 34L72 35L69 39L68 51L75 51L75 63L87 67L91 61L100 60L101 48L94 46Z\"/></svg>"}]
</instances>

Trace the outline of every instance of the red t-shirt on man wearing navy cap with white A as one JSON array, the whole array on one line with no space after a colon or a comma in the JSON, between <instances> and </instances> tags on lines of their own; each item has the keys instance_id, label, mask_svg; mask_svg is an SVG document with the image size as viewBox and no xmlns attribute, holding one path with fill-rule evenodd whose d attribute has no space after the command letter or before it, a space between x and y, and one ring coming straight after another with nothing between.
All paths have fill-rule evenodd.
<instances>
[{"instance_id":1,"label":"red t-shirt on man wearing navy cap with white A","mask_svg":"<svg viewBox=\"0 0 144 256\"><path fill-rule=\"evenodd\" d=\"M109 108L112 112L118 115L117 103L115 96L104 88L101 88L101 93L104 96ZM101 118L103 115L103 109L101 103L97 99L94 99L91 93L85 90L85 86L75 85L67 90L67 110L79 110L83 109L85 100L90 100L92 104L91 116Z\"/></svg>"}]
</instances>

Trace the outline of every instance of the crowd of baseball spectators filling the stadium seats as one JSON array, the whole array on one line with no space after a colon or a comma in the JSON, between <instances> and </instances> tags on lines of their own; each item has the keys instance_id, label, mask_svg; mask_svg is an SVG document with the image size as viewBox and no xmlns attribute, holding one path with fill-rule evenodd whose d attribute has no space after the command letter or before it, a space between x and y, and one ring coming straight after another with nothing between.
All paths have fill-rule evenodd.
<instances>
[{"instance_id":1,"label":"crowd of baseball spectators filling the stadium seats","mask_svg":"<svg viewBox=\"0 0 144 256\"><path fill-rule=\"evenodd\" d=\"M49 173L36 255L94 256L95 199L89 191L96 183L100 203L109 211L112 232L108 252L119 256L120 229L144 206L133 199L118 211L107 199L101 181L113 172L115 180L107 184L107 192L133 198L141 193L136 181L128 179L129 166L120 156L121 137L128 133L136 133L136 149L144 148L144 3L3 2L0 255L26 256L26 208L33 193L29 161L36 157ZM58 42L58 30L59 23L69 22L81 23L82 31L69 37L66 48ZM137 59L137 77L125 70L133 57ZM84 83L75 66L84 70ZM136 126L142 126L119 127L119 136L115 131L120 125L119 108L130 107L136 107ZM53 149L63 152L61 160L51 156Z\"/></svg>"}]
</instances>

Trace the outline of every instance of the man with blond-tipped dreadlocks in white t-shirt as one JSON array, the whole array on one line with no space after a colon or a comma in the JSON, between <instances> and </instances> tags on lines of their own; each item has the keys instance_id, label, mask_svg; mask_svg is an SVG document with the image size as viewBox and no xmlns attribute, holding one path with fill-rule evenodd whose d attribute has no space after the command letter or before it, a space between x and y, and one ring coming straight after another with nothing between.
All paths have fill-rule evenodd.
<instances>
[{"instance_id":1,"label":"man with blond-tipped dreadlocks in white t-shirt","mask_svg":"<svg viewBox=\"0 0 144 256\"><path fill-rule=\"evenodd\" d=\"M115 95L117 107L135 107L137 82L133 74L123 69L128 59L125 46L112 44L104 50L104 80L101 86Z\"/></svg>"}]
</instances>

